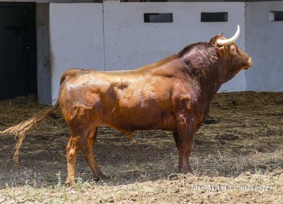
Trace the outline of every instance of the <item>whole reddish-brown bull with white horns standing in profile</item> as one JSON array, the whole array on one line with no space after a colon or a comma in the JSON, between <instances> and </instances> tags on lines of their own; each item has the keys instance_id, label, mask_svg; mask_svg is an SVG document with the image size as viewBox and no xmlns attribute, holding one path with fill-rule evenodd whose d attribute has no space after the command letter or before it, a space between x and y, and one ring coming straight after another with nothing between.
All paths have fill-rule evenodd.
<instances>
[{"instance_id":1,"label":"whole reddish-brown bull with white horns standing in profile","mask_svg":"<svg viewBox=\"0 0 283 204\"><path fill-rule=\"evenodd\" d=\"M61 79L56 104L33 118L0 133L20 135L15 159L27 132L58 105L71 131L67 144L67 182L75 178L79 151L96 178L103 174L93 147L97 127L116 128L131 139L135 130L170 130L179 151L179 168L191 174L193 136L220 86L252 65L234 41L216 35L209 42L185 47L159 62L124 71L69 69Z\"/></svg>"}]
</instances>

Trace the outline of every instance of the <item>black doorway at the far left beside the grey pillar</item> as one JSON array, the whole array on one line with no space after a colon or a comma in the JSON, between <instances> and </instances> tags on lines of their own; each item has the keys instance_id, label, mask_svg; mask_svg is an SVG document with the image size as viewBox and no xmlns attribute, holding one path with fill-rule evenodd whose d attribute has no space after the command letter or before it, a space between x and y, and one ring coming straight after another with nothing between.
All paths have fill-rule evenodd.
<instances>
[{"instance_id":1,"label":"black doorway at the far left beside the grey pillar","mask_svg":"<svg viewBox=\"0 0 283 204\"><path fill-rule=\"evenodd\" d=\"M0 2L0 100L36 89L35 4Z\"/></svg>"}]
</instances>

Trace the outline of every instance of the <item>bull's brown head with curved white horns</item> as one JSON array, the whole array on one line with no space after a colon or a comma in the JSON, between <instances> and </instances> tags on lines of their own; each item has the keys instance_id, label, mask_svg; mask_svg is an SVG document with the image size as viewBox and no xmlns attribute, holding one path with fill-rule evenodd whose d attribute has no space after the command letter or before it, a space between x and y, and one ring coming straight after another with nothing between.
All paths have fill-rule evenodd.
<instances>
[{"instance_id":1,"label":"bull's brown head with curved white horns","mask_svg":"<svg viewBox=\"0 0 283 204\"><path fill-rule=\"evenodd\" d=\"M235 44L235 41L240 35L239 25L234 36L229 39L222 36L223 32L224 30L211 38L210 43L216 46L221 61L224 63L224 67L229 69L228 71L233 72L231 74L236 74L242 69L250 68L252 66L251 57Z\"/></svg>"}]
</instances>

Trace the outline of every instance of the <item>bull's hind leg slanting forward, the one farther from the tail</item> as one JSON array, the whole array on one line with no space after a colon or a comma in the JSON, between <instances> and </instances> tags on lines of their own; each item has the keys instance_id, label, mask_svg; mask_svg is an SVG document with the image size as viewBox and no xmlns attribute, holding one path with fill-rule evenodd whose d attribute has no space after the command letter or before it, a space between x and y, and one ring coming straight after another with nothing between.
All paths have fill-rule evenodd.
<instances>
[{"instance_id":1,"label":"bull's hind leg slanting forward, the one farther from the tail","mask_svg":"<svg viewBox=\"0 0 283 204\"><path fill-rule=\"evenodd\" d=\"M96 137L97 137L97 127L94 128L94 133L93 131L91 131L89 136L86 138L86 142L82 150L88 162L88 165L94 174L94 177L96 179L100 179L100 178L103 178L104 175L101 173L101 170L98 164L96 163L95 156L93 153L93 147L95 145Z\"/></svg>"}]
</instances>

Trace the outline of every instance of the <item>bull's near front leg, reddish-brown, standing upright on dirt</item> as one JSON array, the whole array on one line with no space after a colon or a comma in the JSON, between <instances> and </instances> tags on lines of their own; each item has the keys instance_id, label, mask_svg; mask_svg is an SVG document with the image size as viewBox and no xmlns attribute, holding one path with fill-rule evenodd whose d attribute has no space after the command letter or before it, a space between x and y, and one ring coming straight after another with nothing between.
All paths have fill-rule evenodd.
<instances>
[{"instance_id":1,"label":"bull's near front leg, reddish-brown, standing upright on dirt","mask_svg":"<svg viewBox=\"0 0 283 204\"><path fill-rule=\"evenodd\" d=\"M189 154L193 148L193 136L196 132L196 117L189 111L178 114L177 121L178 135L174 134L176 145L179 151L179 168L181 168L186 177L192 175ZM178 139L177 139L178 138Z\"/></svg>"}]
</instances>

